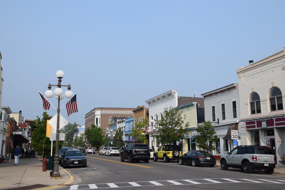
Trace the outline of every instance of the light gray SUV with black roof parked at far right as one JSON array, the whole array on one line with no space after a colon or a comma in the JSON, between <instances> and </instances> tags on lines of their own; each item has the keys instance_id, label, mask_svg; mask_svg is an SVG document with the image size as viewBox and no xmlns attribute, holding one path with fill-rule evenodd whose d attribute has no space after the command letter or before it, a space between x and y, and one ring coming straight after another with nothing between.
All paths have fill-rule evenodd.
<instances>
[{"instance_id":1,"label":"light gray SUV with black roof parked at far right","mask_svg":"<svg viewBox=\"0 0 285 190\"><path fill-rule=\"evenodd\" d=\"M264 170L272 174L275 168L275 156L267 146L237 146L228 154L221 155L221 169L240 168L245 173L252 170Z\"/></svg>"}]
</instances>

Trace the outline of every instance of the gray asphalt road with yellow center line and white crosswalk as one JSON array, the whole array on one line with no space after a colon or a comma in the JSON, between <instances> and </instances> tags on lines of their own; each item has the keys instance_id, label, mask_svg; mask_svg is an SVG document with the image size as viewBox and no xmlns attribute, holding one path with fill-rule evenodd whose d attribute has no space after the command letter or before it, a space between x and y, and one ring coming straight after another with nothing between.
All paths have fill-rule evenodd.
<instances>
[{"instance_id":1,"label":"gray asphalt road with yellow center line and white crosswalk","mask_svg":"<svg viewBox=\"0 0 285 190\"><path fill-rule=\"evenodd\" d=\"M239 169L221 170L220 167L179 165L162 160L149 163L120 162L118 156L88 154L87 167L66 170L74 176L75 183L64 189L282 189L285 176L268 175L254 171L243 173Z\"/></svg>"}]
</instances>

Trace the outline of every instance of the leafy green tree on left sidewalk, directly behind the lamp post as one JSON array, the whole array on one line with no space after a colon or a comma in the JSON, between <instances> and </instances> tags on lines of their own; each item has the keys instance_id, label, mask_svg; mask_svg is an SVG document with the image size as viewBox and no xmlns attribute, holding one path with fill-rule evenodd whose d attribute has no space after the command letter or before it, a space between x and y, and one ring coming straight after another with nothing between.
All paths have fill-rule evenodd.
<instances>
[{"instance_id":1,"label":"leafy green tree on left sidewalk, directly behind the lamp post","mask_svg":"<svg viewBox=\"0 0 285 190\"><path fill-rule=\"evenodd\" d=\"M37 151L38 155L42 156L44 148L44 155L50 155L51 141L49 137L46 137L47 118L51 116L47 115L47 112L42 113L42 119L37 116L34 122L31 122L31 147ZM44 147L45 141L45 147ZM59 141L59 148L63 146L63 141ZM53 155L55 153L56 143L53 142Z\"/></svg>"}]
</instances>

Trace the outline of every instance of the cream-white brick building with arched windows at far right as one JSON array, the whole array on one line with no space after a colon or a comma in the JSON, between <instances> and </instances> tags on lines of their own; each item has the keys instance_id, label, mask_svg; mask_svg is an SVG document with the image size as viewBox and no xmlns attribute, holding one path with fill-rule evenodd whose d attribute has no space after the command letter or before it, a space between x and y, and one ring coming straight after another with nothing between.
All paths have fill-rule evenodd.
<instances>
[{"instance_id":1,"label":"cream-white brick building with arched windows at far right","mask_svg":"<svg viewBox=\"0 0 285 190\"><path fill-rule=\"evenodd\" d=\"M243 144L271 148L276 163L285 154L285 48L237 70Z\"/></svg>"}]
</instances>

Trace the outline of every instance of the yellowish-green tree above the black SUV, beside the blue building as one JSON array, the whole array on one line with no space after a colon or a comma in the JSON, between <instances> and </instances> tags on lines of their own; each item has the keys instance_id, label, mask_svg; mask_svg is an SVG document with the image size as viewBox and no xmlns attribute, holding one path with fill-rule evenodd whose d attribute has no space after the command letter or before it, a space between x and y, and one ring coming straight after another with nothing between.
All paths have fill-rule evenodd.
<instances>
[{"instance_id":1,"label":"yellowish-green tree above the black SUV, beside the blue building","mask_svg":"<svg viewBox=\"0 0 285 190\"><path fill-rule=\"evenodd\" d=\"M142 134L143 130L145 129L145 125L148 124L148 120L144 119L143 121L136 120L133 127L132 127L132 140L134 143L141 142L143 143L145 140L145 135Z\"/></svg>"}]
</instances>

